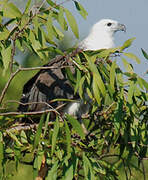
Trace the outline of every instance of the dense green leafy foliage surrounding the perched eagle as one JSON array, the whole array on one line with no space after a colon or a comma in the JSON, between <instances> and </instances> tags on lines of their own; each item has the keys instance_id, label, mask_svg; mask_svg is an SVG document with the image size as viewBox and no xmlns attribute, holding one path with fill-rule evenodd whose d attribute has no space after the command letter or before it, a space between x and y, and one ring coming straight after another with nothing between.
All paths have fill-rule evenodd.
<instances>
[{"instance_id":1,"label":"dense green leafy foliage surrounding the perched eagle","mask_svg":"<svg viewBox=\"0 0 148 180\"><path fill-rule=\"evenodd\" d=\"M82 5L76 1L74 4L86 18ZM148 83L134 72L126 59L140 63L139 58L124 52L134 38L122 47L80 52L69 59L75 66L75 73L65 68L66 76L75 92L84 102L89 99L91 106L89 114L82 117L89 132L87 135L82 124L70 115L57 115L51 122L50 113L45 112L39 124L22 125L20 118L34 118L35 115L11 112L7 107L9 98L5 96L21 71L33 69L22 68L15 61L16 48L24 52L27 47L44 62L56 54L65 56L57 48L55 39L61 40L62 31L69 27L78 38L78 27L63 3L46 0L46 4L43 1L39 7L31 7L31 0L28 0L23 13L9 1L1 1L0 5L1 78L7 77L0 96L1 179L13 174L6 170L9 161L15 162L17 170L21 163L32 165L34 179L43 178L43 174L46 179L119 179L121 168L126 179L134 177L131 169L145 178ZM62 30L57 28L57 23ZM67 50L67 54L69 52L71 50ZM147 58L147 53L142 52ZM118 60L123 62L125 72L117 65Z\"/></svg>"}]
</instances>

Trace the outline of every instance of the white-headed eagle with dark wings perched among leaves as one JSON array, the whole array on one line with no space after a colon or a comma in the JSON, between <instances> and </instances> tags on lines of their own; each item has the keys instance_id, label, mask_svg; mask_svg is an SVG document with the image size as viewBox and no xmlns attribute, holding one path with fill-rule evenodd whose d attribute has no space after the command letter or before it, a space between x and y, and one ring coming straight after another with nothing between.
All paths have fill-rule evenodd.
<instances>
[{"instance_id":1,"label":"white-headed eagle with dark wings perched among leaves","mask_svg":"<svg viewBox=\"0 0 148 180\"><path fill-rule=\"evenodd\" d=\"M82 40L75 51L67 56L57 55L51 59L45 67L50 69L40 70L23 87L23 93L20 100L18 111L42 111L49 108L56 109L60 113L68 113L80 117L89 109L89 103L80 100L78 94L65 76L62 66L71 66L69 57L78 52L86 50L99 50L114 47L114 33L117 31L126 31L124 24L111 19L102 19L93 25L88 36ZM75 69L71 66L71 71ZM54 99L69 99L72 101L53 101Z\"/></svg>"}]
</instances>

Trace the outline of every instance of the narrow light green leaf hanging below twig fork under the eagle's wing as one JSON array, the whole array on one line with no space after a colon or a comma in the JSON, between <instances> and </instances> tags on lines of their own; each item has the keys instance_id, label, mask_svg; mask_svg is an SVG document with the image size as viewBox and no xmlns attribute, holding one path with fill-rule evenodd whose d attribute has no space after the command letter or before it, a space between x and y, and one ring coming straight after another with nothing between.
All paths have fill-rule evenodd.
<instances>
[{"instance_id":1,"label":"narrow light green leaf hanging below twig fork under the eagle's wing","mask_svg":"<svg viewBox=\"0 0 148 180\"><path fill-rule=\"evenodd\" d=\"M59 118L57 116L56 121L54 123L54 129L53 129L53 134L52 134L51 155L53 155L54 150L55 150L55 145L56 145L56 140L57 140L57 137L58 137L58 132L59 132Z\"/></svg>"}]
</instances>

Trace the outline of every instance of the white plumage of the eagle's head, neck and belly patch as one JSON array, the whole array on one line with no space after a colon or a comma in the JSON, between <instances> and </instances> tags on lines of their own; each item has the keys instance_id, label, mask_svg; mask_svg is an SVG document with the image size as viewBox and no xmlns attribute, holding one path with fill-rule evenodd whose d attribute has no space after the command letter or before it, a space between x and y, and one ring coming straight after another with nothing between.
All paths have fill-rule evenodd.
<instances>
[{"instance_id":1,"label":"white plumage of the eagle's head, neck and belly patch","mask_svg":"<svg viewBox=\"0 0 148 180\"><path fill-rule=\"evenodd\" d=\"M114 47L114 33L117 31L126 31L125 25L111 19L102 19L93 25L89 35L79 43L78 47L83 50L99 50ZM90 99L87 97L88 101ZM89 103L84 104L82 100L71 102L67 105L64 112L81 116L88 112Z\"/></svg>"}]
</instances>

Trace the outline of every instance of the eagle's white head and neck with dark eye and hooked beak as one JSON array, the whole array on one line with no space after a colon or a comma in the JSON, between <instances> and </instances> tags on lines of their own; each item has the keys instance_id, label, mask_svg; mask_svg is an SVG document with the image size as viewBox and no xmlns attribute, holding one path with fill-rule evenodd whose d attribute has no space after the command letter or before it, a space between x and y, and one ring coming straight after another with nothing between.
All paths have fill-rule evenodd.
<instances>
[{"instance_id":1,"label":"eagle's white head and neck with dark eye and hooked beak","mask_svg":"<svg viewBox=\"0 0 148 180\"><path fill-rule=\"evenodd\" d=\"M102 19L93 25L89 35L79 44L83 50L98 50L114 47L114 33L126 31L124 24L111 19Z\"/></svg>"}]
</instances>

